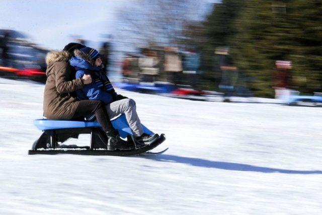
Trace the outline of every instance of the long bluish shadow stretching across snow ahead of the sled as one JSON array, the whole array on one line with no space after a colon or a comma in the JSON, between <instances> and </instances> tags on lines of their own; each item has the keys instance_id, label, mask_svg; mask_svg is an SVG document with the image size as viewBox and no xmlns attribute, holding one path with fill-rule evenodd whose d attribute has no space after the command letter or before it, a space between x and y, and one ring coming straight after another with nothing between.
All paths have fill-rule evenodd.
<instances>
[{"instance_id":1,"label":"long bluish shadow stretching across snow ahead of the sled","mask_svg":"<svg viewBox=\"0 0 322 215\"><path fill-rule=\"evenodd\" d=\"M233 171L250 171L250 172L284 173L284 174L322 174L322 171L320 170L286 170L286 169L277 169L277 168L269 168L269 167L258 167L258 166L248 165L248 164L208 161L208 160L199 159L199 158L188 158L188 157L180 157L175 155L159 155L155 157L148 157L148 159L162 161L162 162L188 164L196 167L206 167L206 168L215 168L215 169L223 169L223 170L233 170Z\"/></svg>"}]
</instances>

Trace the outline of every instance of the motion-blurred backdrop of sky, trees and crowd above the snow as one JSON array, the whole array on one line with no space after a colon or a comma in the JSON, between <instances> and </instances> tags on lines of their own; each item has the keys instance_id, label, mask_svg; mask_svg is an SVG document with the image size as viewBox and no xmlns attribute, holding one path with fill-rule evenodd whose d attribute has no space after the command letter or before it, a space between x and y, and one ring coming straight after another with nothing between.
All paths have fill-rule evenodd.
<instances>
[{"instance_id":1,"label":"motion-blurred backdrop of sky, trees and crowd above the snow","mask_svg":"<svg viewBox=\"0 0 322 215\"><path fill-rule=\"evenodd\" d=\"M69 42L100 50L119 88L209 100L321 102L317 0L1 1L0 76L45 82Z\"/></svg>"}]
</instances>

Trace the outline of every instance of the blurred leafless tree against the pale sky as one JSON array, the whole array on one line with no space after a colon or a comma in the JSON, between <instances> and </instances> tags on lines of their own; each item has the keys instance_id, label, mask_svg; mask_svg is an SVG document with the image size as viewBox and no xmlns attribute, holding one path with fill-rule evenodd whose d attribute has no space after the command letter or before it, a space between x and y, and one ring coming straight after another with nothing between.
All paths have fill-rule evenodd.
<instances>
[{"instance_id":1,"label":"blurred leafless tree against the pale sky","mask_svg":"<svg viewBox=\"0 0 322 215\"><path fill-rule=\"evenodd\" d=\"M119 35L136 47L178 46L182 27L196 13L192 0L136 0L119 12Z\"/></svg>"}]
</instances>

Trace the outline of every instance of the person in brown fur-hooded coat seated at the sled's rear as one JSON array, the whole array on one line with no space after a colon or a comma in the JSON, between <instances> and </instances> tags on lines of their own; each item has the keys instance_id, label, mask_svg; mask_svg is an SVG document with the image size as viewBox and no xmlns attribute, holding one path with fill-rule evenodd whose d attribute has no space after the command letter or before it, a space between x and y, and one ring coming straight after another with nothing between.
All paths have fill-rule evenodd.
<instances>
[{"instance_id":1,"label":"person in brown fur-hooded coat seated at the sled's rear","mask_svg":"<svg viewBox=\"0 0 322 215\"><path fill-rule=\"evenodd\" d=\"M97 121L102 126L108 141L108 147L129 150L123 140L116 134L110 118L104 110L101 101L83 100L76 98L75 91L92 83L90 75L74 79L74 68L68 63L75 49L84 48L79 43L69 43L62 51L51 51L46 56L47 81L44 91L44 116L47 119L77 119L79 117L95 114ZM73 75L73 77L72 77Z\"/></svg>"}]
</instances>

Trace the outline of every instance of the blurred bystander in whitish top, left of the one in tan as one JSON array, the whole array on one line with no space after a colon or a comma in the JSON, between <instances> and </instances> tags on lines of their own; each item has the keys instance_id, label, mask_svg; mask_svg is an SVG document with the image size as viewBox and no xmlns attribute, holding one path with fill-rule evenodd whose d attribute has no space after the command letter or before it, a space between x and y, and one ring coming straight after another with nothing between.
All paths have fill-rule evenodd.
<instances>
[{"instance_id":1,"label":"blurred bystander in whitish top, left of the one in tan","mask_svg":"<svg viewBox=\"0 0 322 215\"><path fill-rule=\"evenodd\" d=\"M139 57L140 79L142 82L154 82L159 72L159 59L156 51L143 49L142 56Z\"/></svg>"}]
</instances>

